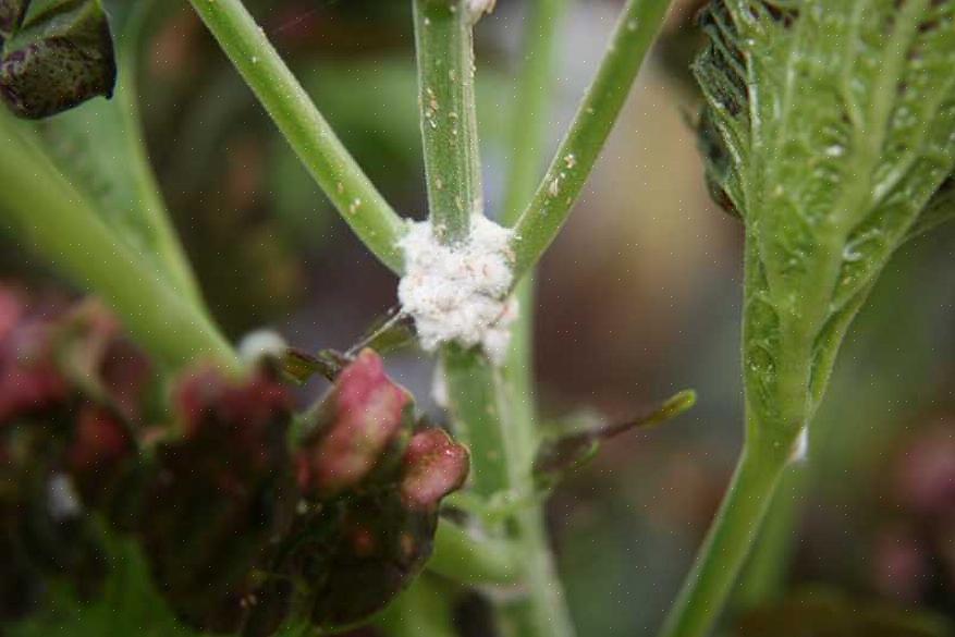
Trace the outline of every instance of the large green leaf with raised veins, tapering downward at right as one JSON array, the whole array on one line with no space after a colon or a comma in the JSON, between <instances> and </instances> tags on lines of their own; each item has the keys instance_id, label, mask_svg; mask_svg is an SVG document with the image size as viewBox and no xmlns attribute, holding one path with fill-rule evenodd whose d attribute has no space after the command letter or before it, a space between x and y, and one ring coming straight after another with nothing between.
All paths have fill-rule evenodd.
<instances>
[{"instance_id":1,"label":"large green leaf with raised veins, tapering downward at right","mask_svg":"<svg viewBox=\"0 0 955 637\"><path fill-rule=\"evenodd\" d=\"M746 224L747 401L792 442L889 258L951 215L922 209L955 164L955 2L714 0L701 23L707 176Z\"/></svg>"}]
</instances>

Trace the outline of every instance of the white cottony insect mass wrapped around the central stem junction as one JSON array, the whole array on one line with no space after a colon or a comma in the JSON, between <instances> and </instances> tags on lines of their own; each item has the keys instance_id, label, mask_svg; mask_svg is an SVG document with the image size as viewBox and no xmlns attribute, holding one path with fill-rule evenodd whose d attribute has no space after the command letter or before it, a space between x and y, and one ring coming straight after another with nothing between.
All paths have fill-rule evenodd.
<instances>
[{"instance_id":1,"label":"white cottony insect mass wrapped around the central stem junction","mask_svg":"<svg viewBox=\"0 0 955 637\"><path fill-rule=\"evenodd\" d=\"M483 217L472 217L470 235L442 245L427 221L412 223L402 238L405 275L397 297L415 319L421 346L480 345L494 364L507 354L517 302L507 298L514 272L512 232Z\"/></svg>"}]
</instances>

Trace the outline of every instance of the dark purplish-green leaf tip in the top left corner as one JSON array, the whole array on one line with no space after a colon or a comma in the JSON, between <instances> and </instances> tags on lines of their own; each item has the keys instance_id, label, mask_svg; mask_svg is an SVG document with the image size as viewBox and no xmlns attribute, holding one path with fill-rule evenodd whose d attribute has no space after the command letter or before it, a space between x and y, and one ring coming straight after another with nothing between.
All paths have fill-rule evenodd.
<instances>
[{"instance_id":1,"label":"dark purplish-green leaf tip in the top left corner","mask_svg":"<svg viewBox=\"0 0 955 637\"><path fill-rule=\"evenodd\" d=\"M112 95L117 65L98 0L3 0L0 32L0 97L17 117L48 118Z\"/></svg>"}]
</instances>

